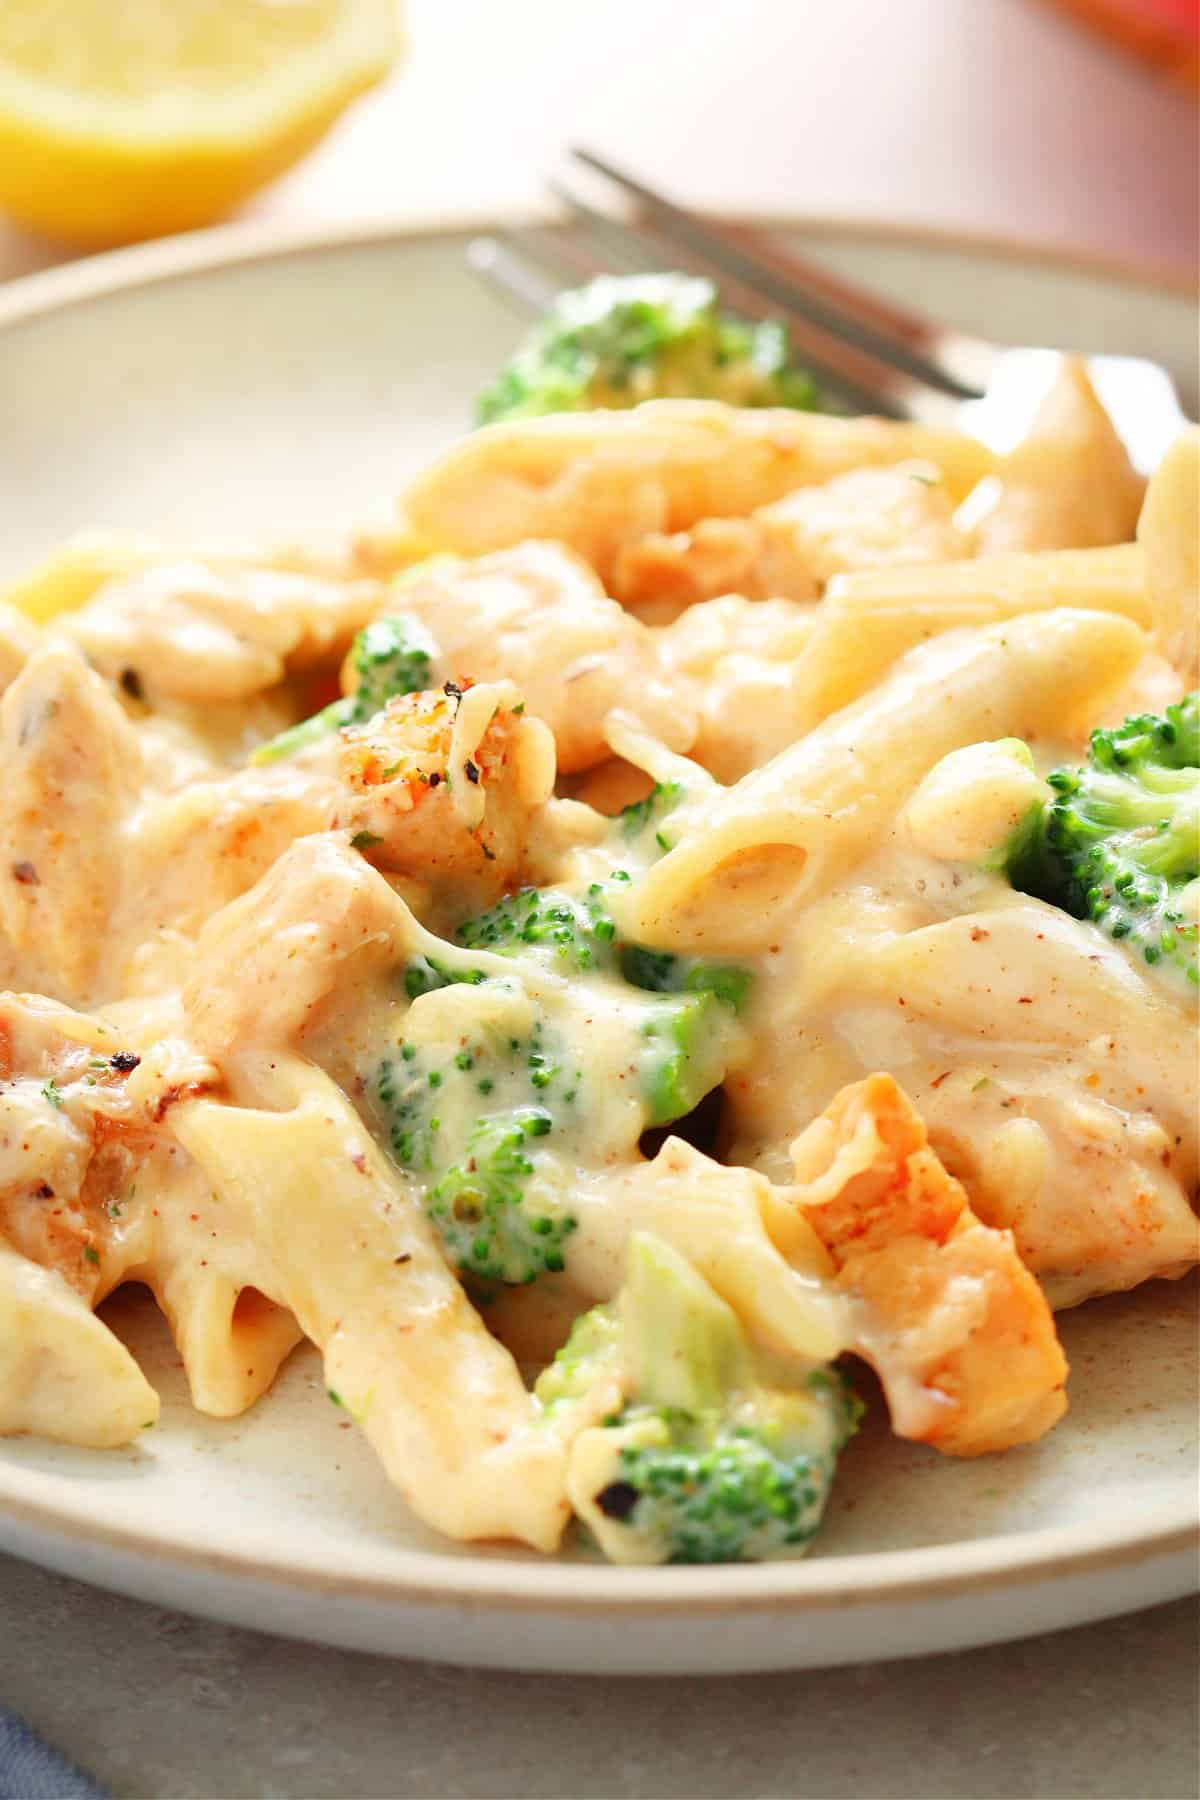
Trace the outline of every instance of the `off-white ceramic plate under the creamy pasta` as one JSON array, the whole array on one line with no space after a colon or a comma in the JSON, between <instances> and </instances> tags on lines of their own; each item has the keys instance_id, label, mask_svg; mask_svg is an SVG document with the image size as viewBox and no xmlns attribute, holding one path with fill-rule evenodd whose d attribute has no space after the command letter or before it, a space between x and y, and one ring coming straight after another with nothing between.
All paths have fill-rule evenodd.
<instances>
[{"instance_id":1,"label":"off-white ceramic plate under the creamy pasta","mask_svg":"<svg viewBox=\"0 0 1200 1800\"><path fill-rule=\"evenodd\" d=\"M1195 407L1178 293L887 232L797 241L966 329L1155 356ZM462 245L221 232L0 292L0 581L95 526L236 538L385 513L518 329ZM162 1424L104 1454L0 1444L0 1544L245 1625L524 1669L745 1670L997 1642L1196 1582L1195 1278L1063 1318L1070 1415L1038 1447L952 1463L889 1438L876 1400L811 1559L716 1570L446 1546L405 1516L311 1352L221 1424L187 1406L148 1301L106 1310Z\"/></svg>"}]
</instances>

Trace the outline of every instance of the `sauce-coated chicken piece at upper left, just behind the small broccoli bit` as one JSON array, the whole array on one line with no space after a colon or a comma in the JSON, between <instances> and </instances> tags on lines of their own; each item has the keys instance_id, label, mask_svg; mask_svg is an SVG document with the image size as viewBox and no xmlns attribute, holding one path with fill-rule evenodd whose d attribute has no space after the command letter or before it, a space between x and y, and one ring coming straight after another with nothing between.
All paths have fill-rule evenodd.
<instances>
[{"instance_id":1,"label":"sauce-coated chicken piece at upper left, just behind the small broccoli bit","mask_svg":"<svg viewBox=\"0 0 1200 1800\"><path fill-rule=\"evenodd\" d=\"M344 655L378 601L374 581L175 562L104 583L58 626L126 689L219 702Z\"/></svg>"}]
</instances>

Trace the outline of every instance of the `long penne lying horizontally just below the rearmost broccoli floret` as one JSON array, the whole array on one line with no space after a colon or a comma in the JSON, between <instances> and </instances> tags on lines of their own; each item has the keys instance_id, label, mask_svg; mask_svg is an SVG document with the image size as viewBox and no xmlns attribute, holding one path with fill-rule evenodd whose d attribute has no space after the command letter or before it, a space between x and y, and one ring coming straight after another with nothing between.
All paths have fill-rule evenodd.
<instances>
[{"instance_id":1,"label":"long penne lying horizontally just below the rearmost broccoli floret","mask_svg":"<svg viewBox=\"0 0 1200 1800\"><path fill-rule=\"evenodd\" d=\"M471 432L403 508L430 549L480 556L558 538L608 583L621 551L649 533L745 518L806 484L910 457L934 463L955 500L995 461L973 437L923 425L653 400Z\"/></svg>"}]
</instances>

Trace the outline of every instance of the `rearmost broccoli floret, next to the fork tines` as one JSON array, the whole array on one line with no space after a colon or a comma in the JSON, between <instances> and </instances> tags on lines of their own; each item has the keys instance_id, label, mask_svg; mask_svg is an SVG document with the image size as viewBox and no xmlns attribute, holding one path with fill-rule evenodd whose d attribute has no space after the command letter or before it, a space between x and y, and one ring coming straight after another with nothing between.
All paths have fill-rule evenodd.
<instances>
[{"instance_id":1,"label":"rearmost broccoli floret, next to the fork tines","mask_svg":"<svg viewBox=\"0 0 1200 1800\"><path fill-rule=\"evenodd\" d=\"M696 275L599 275L560 293L479 398L479 423L655 398L820 407L777 320L739 319Z\"/></svg>"}]
</instances>

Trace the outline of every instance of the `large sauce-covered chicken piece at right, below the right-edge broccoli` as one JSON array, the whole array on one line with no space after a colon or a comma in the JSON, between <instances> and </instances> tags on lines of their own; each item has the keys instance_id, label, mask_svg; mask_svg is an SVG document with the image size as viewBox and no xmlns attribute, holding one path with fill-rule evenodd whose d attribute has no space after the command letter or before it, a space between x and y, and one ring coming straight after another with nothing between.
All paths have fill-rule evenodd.
<instances>
[{"instance_id":1,"label":"large sauce-covered chicken piece at right, below the right-edge broccoli","mask_svg":"<svg viewBox=\"0 0 1200 1800\"><path fill-rule=\"evenodd\" d=\"M936 864L918 878L919 895L892 862L891 893L867 873L808 911L729 1089L734 1154L781 1179L779 1120L891 1067L1054 1307L1184 1274L1200 1262L1195 1003L999 880L995 904L923 923ZM955 880L945 866L946 905Z\"/></svg>"}]
</instances>

